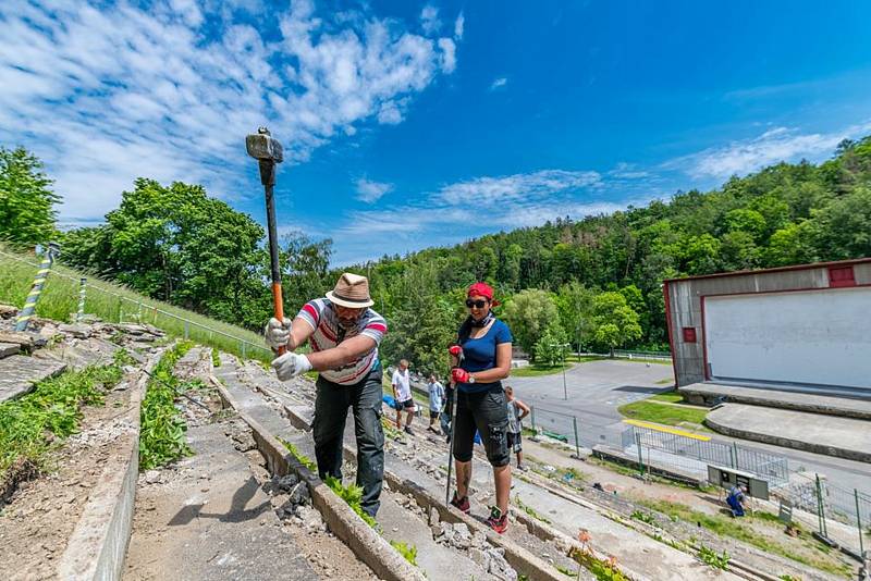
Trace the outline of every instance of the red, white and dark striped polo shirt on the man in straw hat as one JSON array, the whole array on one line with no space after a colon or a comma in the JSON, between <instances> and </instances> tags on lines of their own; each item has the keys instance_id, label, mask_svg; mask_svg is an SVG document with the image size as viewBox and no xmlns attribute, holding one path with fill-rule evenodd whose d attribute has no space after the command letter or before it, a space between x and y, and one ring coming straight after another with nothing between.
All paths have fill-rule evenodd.
<instances>
[{"instance_id":1,"label":"red, white and dark striped polo shirt on the man in straw hat","mask_svg":"<svg viewBox=\"0 0 871 581\"><path fill-rule=\"evenodd\" d=\"M365 378L378 364L378 346L388 332L388 324L384 318L372 309L366 309L357 320L357 324L347 330L342 329L339 324L339 316L328 298L309 300L299 310L297 317L315 330L315 333L308 339L314 351L331 349L342 341L357 335L366 335L375 339L372 350L364 354L357 360L339 369L321 371L320 374L323 379L341 385L353 385Z\"/></svg>"}]
</instances>

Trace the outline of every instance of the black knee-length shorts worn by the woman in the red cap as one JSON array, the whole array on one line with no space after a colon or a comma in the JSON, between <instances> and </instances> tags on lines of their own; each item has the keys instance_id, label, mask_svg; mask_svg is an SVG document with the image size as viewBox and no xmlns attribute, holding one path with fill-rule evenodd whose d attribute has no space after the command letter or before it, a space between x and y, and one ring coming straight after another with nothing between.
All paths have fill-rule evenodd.
<instances>
[{"instance_id":1,"label":"black knee-length shorts worn by the woman in the red cap","mask_svg":"<svg viewBox=\"0 0 871 581\"><path fill-rule=\"evenodd\" d=\"M454 458L461 462L471 460L475 430L481 434L487 459L496 468L507 466L508 408L505 392L496 383L490 390L477 394L459 392L454 430Z\"/></svg>"}]
</instances>

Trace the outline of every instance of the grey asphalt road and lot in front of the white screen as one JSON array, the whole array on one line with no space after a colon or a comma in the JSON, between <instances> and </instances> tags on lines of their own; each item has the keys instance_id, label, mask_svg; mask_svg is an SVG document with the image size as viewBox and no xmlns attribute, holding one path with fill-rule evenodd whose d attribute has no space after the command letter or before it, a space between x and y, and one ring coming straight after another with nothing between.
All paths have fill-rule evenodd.
<instances>
[{"instance_id":1,"label":"grey asphalt road and lot in front of the white screen","mask_svg":"<svg viewBox=\"0 0 871 581\"><path fill-rule=\"evenodd\" d=\"M643 399L655 393L671 390L672 368L658 363L630 362L625 360L590 361L576 364L565 373L563 397L563 374L540 378L511 378L515 394L522 400L536 407L536 423L544 429L572 434L572 416L577 417L581 442L599 438L618 445L618 434L625 424L617 408L624 404ZM559 413L553 413L559 412ZM565 416L561 416L565 415ZM871 465L783 448L780 446L748 442L716 435L722 442L738 442L740 445L777 454L789 459L789 469L826 474L831 482L845 489L858 487L871 493Z\"/></svg>"}]
</instances>

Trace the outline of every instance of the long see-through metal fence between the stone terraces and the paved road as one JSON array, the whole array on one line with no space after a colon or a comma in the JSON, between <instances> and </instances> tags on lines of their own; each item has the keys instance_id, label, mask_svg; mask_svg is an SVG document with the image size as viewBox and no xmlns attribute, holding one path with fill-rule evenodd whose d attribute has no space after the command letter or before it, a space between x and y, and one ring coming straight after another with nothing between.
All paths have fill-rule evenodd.
<instances>
[{"instance_id":1,"label":"long see-through metal fence between the stone terraces and the paved road","mask_svg":"<svg viewBox=\"0 0 871 581\"><path fill-rule=\"evenodd\" d=\"M871 494L790 471L783 456L671 430L613 422L597 425L540 406L531 407L529 421L536 432L575 447L576 454L580 447L608 446L627 459L637 458L639 472L654 466L699 480L708 478L709 465L749 472L769 483L773 497L814 516L817 522L810 524L823 537L847 547L857 558L871 548Z\"/></svg>"}]
</instances>

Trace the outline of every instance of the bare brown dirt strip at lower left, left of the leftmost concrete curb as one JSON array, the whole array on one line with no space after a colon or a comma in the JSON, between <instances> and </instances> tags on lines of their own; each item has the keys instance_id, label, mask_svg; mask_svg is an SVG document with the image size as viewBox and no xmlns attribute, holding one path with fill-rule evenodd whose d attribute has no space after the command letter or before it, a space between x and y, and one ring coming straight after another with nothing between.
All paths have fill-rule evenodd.
<instances>
[{"instance_id":1,"label":"bare brown dirt strip at lower left, left of the leftmost concrete curb","mask_svg":"<svg viewBox=\"0 0 871 581\"><path fill-rule=\"evenodd\" d=\"M126 383L122 383L126 386ZM103 406L83 408L77 434L48 459L49 470L20 482L0 512L0 579L56 579L66 548L114 442L132 430L123 416L130 391L112 391Z\"/></svg>"}]
</instances>

